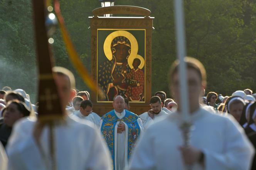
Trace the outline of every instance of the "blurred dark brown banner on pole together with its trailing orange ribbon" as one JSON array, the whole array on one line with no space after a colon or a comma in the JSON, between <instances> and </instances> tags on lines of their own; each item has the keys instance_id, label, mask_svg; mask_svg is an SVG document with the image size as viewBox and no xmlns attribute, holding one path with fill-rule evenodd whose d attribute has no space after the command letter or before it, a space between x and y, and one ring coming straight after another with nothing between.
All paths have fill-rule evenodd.
<instances>
[{"instance_id":1,"label":"blurred dark brown banner on pole together with its trailing orange ribbon","mask_svg":"<svg viewBox=\"0 0 256 170\"><path fill-rule=\"evenodd\" d=\"M82 64L76 50L71 42L71 38L67 33L64 25L64 19L61 15L60 4L58 0L53 0L54 5L51 4L51 0L32 0L33 6L33 18L34 18L34 29L35 29L35 42L36 42L36 53L37 63L39 67L39 108L38 108L38 120L34 128L34 137L37 141L40 153L44 159L45 166L47 169L56 170L56 148L54 138L54 127L56 122L63 121L65 115L65 108L61 106L61 98L57 90L56 83L54 81L54 74L52 73L52 67L54 66L54 59L52 57L51 48L49 43L53 43L52 34L55 31L55 27L59 22L62 37L69 54L71 62L77 69L77 72L81 75L84 82L88 87L97 91L98 87L92 81L89 73ZM52 7L54 6L54 7ZM55 10L56 15L53 13ZM101 90L99 90L101 93ZM46 156L42 150L40 143L40 135L36 134L36 130L41 132L39 129L49 127L49 156ZM38 129L39 128L39 129Z\"/></svg>"}]
</instances>

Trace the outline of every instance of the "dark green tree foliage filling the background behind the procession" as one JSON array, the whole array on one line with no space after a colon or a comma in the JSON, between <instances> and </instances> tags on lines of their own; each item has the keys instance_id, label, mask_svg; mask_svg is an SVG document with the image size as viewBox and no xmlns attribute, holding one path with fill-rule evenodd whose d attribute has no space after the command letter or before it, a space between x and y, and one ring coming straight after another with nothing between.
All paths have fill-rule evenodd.
<instances>
[{"instance_id":1,"label":"dark green tree foliage filling the background behind the procession","mask_svg":"<svg viewBox=\"0 0 256 170\"><path fill-rule=\"evenodd\" d=\"M91 69L89 16L98 0L60 0L62 15L77 52ZM169 0L116 0L151 10L152 93L169 94L167 72L176 58L173 4ZM235 90L256 91L256 1L185 0L187 55L207 70L207 92L231 95ZM0 1L0 88L23 88L36 101L37 67L31 0ZM77 89L87 90L69 62L59 28L53 36L56 65L75 74Z\"/></svg>"}]
</instances>

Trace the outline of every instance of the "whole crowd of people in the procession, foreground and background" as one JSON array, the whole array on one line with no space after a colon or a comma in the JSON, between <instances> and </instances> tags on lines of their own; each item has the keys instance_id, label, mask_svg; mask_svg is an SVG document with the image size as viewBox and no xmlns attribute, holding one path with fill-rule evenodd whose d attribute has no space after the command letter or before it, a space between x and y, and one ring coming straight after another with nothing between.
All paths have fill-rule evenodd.
<instances>
[{"instance_id":1,"label":"whole crowd of people in the procession, foreground and background","mask_svg":"<svg viewBox=\"0 0 256 170\"><path fill-rule=\"evenodd\" d=\"M130 112L129 100L117 95L113 110L100 117L93 112L88 91L72 87L71 72L59 70L69 83L65 123L56 123L55 159L49 151L49 129L37 120L38 103L22 89L0 90L0 168L10 170L183 170L256 169L256 94L237 90L223 97L205 96L206 72L186 58L191 137L184 144L179 92L179 62L170 71L173 99L158 91L145 113ZM57 71L58 72L58 71ZM57 79L56 79L57 80ZM56 81L64 89L63 83ZM40 113L39 113L40 114ZM63 120L62 120L63 121ZM41 133L42 131L42 133ZM39 133L40 132L40 133ZM40 135L37 135L40 134ZM6 153L5 154L5 150Z\"/></svg>"}]
</instances>

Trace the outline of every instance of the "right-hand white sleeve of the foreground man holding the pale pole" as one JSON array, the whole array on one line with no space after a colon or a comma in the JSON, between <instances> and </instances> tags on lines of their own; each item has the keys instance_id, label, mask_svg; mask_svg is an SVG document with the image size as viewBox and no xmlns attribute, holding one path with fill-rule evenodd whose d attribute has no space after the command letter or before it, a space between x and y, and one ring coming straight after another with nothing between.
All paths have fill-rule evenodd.
<instances>
[{"instance_id":1,"label":"right-hand white sleeve of the foreground man holding the pale pole","mask_svg":"<svg viewBox=\"0 0 256 170\"><path fill-rule=\"evenodd\" d=\"M248 170L252 162L254 148L244 134L244 130L237 122L227 121L223 131L226 134L223 139L224 145L226 145L223 148L223 153L203 150L205 170Z\"/></svg>"}]
</instances>

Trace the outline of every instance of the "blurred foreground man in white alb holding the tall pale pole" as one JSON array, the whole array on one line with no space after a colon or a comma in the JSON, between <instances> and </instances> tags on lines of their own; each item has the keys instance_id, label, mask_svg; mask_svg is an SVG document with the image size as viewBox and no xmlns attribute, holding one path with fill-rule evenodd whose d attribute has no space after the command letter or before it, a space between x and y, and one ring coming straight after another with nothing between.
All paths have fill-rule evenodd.
<instances>
[{"instance_id":1,"label":"blurred foreground man in white alb holding the tall pale pole","mask_svg":"<svg viewBox=\"0 0 256 170\"><path fill-rule=\"evenodd\" d=\"M206 87L206 72L195 58L185 57L189 114L193 128L189 145L183 146L179 62L172 65L169 75L175 101L179 107L165 120L154 123L143 134L131 159L130 170L167 169L183 170L247 170L254 149L244 130L227 115L212 114L199 105L202 88Z\"/></svg>"}]
</instances>

